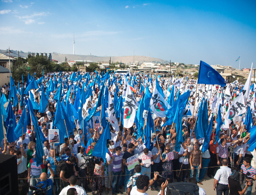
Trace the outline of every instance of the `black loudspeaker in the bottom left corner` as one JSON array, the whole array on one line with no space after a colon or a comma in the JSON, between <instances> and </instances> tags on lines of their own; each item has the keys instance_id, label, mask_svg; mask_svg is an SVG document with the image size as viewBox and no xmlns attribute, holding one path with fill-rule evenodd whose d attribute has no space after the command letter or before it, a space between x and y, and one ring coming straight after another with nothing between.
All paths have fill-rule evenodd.
<instances>
[{"instance_id":1,"label":"black loudspeaker in the bottom left corner","mask_svg":"<svg viewBox=\"0 0 256 195\"><path fill-rule=\"evenodd\" d=\"M16 155L0 155L0 195L18 194Z\"/></svg>"}]
</instances>

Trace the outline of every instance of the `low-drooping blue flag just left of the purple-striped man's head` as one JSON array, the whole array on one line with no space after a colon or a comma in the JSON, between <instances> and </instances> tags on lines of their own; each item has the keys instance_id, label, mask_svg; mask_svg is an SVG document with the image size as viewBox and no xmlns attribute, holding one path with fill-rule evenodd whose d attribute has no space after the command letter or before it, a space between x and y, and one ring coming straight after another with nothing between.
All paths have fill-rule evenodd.
<instances>
[{"instance_id":1,"label":"low-drooping blue flag just left of the purple-striped man's head","mask_svg":"<svg viewBox=\"0 0 256 195\"><path fill-rule=\"evenodd\" d=\"M102 158L104 160L104 163L106 160L106 153L109 153L109 149L106 147L106 143L108 139L111 140L109 122L106 125L106 128L103 131L103 134L100 136L95 147L93 148L93 153L92 153L92 156Z\"/></svg>"}]
</instances>

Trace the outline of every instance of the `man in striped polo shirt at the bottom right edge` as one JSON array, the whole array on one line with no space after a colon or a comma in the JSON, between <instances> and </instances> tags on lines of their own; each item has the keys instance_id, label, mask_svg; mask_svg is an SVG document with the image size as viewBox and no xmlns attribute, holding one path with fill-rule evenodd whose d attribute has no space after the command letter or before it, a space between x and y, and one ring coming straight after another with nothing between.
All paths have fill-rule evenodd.
<instances>
[{"instance_id":1,"label":"man in striped polo shirt at the bottom right edge","mask_svg":"<svg viewBox=\"0 0 256 195\"><path fill-rule=\"evenodd\" d=\"M248 178L251 178L253 180L256 180L256 169L253 168L251 166L251 159L249 157L246 157L243 161L243 165L241 166L241 172L245 175L248 176ZM249 174L247 174L247 172L249 172ZM247 190L246 190L246 195L250 195L251 194L251 190L252 190L252 180L247 179L247 181L251 181L251 186L248 186ZM244 186L245 187L245 186Z\"/></svg>"}]
</instances>

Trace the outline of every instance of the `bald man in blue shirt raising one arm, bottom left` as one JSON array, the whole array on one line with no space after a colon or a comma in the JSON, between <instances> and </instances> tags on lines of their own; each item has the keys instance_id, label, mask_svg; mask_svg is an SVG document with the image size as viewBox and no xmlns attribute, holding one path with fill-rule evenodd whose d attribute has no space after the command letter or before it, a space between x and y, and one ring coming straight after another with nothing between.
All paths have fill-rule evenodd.
<instances>
[{"instance_id":1,"label":"bald man in blue shirt raising one arm, bottom left","mask_svg":"<svg viewBox=\"0 0 256 195\"><path fill-rule=\"evenodd\" d=\"M53 193L53 177L54 177L54 170L51 167L51 164L48 163L48 169L50 170L51 176L47 179L46 172L42 172L40 175L40 182L38 184L44 184L42 188L47 188L47 195L52 195ZM37 184L37 185L38 185Z\"/></svg>"}]
</instances>

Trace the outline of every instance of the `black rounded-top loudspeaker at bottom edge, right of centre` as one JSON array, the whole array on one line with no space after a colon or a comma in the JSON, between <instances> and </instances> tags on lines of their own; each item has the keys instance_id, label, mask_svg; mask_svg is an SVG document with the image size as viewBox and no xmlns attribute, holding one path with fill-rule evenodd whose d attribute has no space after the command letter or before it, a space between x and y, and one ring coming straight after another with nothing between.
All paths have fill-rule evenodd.
<instances>
[{"instance_id":1,"label":"black rounded-top loudspeaker at bottom edge, right of centre","mask_svg":"<svg viewBox=\"0 0 256 195\"><path fill-rule=\"evenodd\" d=\"M166 187L166 195L199 195L199 187L194 183L176 182Z\"/></svg>"}]
</instances>

